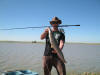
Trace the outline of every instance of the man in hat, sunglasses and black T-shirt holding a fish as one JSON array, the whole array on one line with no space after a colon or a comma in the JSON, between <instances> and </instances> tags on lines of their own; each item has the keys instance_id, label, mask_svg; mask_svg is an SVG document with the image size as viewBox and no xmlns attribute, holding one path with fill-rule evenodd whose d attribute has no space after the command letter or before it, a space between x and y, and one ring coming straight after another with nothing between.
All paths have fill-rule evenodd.
<instances>
[{"instance_id":1,"label":"man in hat, sunglasses and black T-shirt holding a fish","mask_svg":"<svg viewBox=\"0 0 100 75\"><path fill-rule=\"evenodd\" d=\"M58 26L61 24L61 20L58 17L54 17L50 24L52 25L52 32L57 41L59 48L62 50L65 42L65 35L59 31ZM41 40L46 39L46 46L43 56L43 69L44 75L51 75L52 66L57 70L58 75L66 75L65 64L57 56L56 50L51 48L50 39L48 36L48 28L41 35Z\"/></svg>"}]
</instances>

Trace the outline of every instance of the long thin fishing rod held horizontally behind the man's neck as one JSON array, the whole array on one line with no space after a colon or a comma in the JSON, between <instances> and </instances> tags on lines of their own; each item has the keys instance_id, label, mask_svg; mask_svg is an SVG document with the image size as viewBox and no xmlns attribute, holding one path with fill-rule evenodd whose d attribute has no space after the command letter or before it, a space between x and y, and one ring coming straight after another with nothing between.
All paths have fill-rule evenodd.
<instances>
[{"instance_id":1,"label":"long thin fishing rod held horizontally behind the man's neck","mask_svg":"<svg viewBox=\"0 0 100 75\"><path fill-rule=\"evenodd\" d=\"M57 27L70 27L70 26L80 26L80 25L59 25ZM7 28L7 29L0 29L0 30L33 29L33 28L45 28L45 27L52 27L52 26L23 27L23 28Z\"/></svg>"}]
</instances>

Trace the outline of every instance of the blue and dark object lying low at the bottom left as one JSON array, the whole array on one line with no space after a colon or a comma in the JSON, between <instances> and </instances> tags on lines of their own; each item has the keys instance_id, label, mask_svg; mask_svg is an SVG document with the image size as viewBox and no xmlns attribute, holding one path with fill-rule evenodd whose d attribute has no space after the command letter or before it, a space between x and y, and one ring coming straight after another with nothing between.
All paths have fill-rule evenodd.
<instances>
[{"instance_id":1,"label":"blue and dark object lying low at the bottom left","mask_svg":"<svg viewBox=\"0 0 100 75\"><path fill-rule=\"evenodd\" d=\"M7 71L2 73L2 75L39 75L37 72L32 72L31 70L15 70Z\"/></svg>"}]
</instances>

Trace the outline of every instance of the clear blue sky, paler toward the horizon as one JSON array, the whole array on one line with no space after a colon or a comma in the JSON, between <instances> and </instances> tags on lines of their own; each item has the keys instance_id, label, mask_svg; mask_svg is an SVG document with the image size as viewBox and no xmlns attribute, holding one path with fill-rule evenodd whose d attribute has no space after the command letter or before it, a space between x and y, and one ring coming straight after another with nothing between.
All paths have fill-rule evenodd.
<instances>
[{"instance_id":1,"label":"clear blue sky, paler toward the horizon","mask_svg":"<svg viewBox=\"0 0 100 75\"><path fill-rule=\"evenodd\" d=\"M80 24L64 28L66 42L100 43L100 0L0 0L0 29L49 26L54 16ZM0 40L42 41L44 29L0 30Z\"/></svg>"}]
</instances>

